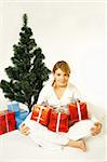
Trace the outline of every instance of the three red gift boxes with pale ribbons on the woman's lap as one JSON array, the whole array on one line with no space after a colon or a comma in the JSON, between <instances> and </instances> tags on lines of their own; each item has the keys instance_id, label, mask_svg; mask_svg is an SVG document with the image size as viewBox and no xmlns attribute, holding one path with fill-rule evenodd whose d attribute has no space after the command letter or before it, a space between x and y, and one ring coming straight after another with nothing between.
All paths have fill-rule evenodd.
<instances>
[{"instance_id":1,"label":"three red gift boxes with pale ribbons on the woman's lap","mask_svg":"<svg viewBox=\"0 0 107 162\"><path fill-rule=\"evenodd\" d=\"M76 122L86 120L89 117L86 104L76 102L67 107L35 105L30 119L48 126L53 132L68 132L68 120Z\"/></svg>"}]
</instances>

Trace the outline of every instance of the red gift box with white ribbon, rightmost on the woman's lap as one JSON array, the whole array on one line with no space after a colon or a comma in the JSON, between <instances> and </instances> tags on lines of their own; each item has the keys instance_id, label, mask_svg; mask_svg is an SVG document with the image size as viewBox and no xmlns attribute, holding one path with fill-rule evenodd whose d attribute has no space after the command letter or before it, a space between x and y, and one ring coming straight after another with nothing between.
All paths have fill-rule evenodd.
<instances>
[{"instance_id":1,"label":"red gift box with white ribbon, rightmost on the woman's lap","mask_svg":"<svg viewBox=\"0 0 107 162\"><path fill-rule=\"evenodd\" d=\"M89 119L86 103L77 102L75 104L69 104L68 107L71 121L80 121Z\"/></svg>"}]
</instances>

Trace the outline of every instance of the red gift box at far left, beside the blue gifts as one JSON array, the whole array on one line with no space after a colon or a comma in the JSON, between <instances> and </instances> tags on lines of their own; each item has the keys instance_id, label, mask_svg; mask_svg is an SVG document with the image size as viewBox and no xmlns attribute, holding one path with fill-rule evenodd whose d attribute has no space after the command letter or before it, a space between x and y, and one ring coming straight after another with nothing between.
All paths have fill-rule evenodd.
<instances>
[{"instance_id":1,"label":"red gift box at far left, beside the blue gifts","mask_svg":"<svg viewBox=\"0 0 107 162\"><path fill-rule=\"evenodd\" d=\"M15 113L9 110L0 111L0 135L16 130Z\"/></svg>"}]
</instances>

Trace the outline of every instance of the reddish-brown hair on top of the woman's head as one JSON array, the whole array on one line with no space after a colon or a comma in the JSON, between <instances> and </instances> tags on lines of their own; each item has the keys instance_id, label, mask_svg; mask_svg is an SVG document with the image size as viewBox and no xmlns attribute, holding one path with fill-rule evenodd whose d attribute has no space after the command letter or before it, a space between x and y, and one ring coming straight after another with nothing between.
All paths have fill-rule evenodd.
<instances>
[{"instance_id":1,"label":"reddish-brown hair on top of the woman's head","mask_svg":"<svg viewBox=\"0 0 107 162\"><path fill-rule=\"evenodd\" d=\"M69 77L69 75L70 75L70 67L69 67L69 65L65 60L59 60L59 62L57 62L54 65L54 67L53 67L53 73L55 73L55 71L58 68L62 69Z\"/></svg>"}]
</instances>

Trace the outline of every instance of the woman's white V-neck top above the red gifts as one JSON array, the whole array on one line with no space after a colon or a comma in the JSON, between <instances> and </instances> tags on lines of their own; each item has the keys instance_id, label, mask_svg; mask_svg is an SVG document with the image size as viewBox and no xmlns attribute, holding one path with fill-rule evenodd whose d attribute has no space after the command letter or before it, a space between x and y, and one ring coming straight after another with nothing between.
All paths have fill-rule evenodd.
<instances>
[{"instance_id":1,"label":"woman's white V-neck top above the red gifts","mask_svg":"<svg viewBox=\"0 0 107 162\"><path fill-rule=\"evenodd\" d=\"M41 90L37 104L48 102L49 105L67 105L71 103L71 99L75 98L80 99L81 96L79 90L71 83L68 83L61 99L57 98L54 92L54 87L52 86L52 83L48 83Z\"/></svg>"}]
</instances>

